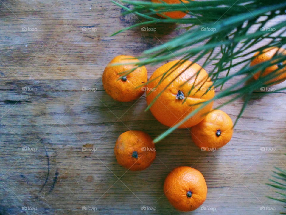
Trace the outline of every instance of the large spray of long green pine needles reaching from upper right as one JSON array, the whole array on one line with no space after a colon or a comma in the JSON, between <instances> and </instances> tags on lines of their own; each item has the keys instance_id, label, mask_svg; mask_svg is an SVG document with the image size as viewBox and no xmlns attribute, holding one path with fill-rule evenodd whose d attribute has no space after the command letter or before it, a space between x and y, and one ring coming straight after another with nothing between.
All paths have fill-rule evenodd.
<instances>
[{"instance_id":1,"label":"large spray of long green pine needles reaching from upper right","mask_svg":"<svg viewBox=\"0 0 286 215\"><path fill-rule=\"evenodd\" d=\"M173 71L186 60L198 62L201 59L205 59L202 67L213 65L212 70L208 71L213 82L212 87L222 89L224 84L229 80L233 83L230 87L217 93L211 101L231 96L231 99L223 103L223 105L226 105L235 99L245 98L245 103L237 119L243 114L247 102L253 97L252 93L261 87L275 84L275 82L270 83L269 81L280 74L279 71L276 71L259 78L257 81L252 79L253 75L260 70L264 70L266 67L286 60L286 56L276 54L273 57L273 60L276 60L275 62L272 60L254 67L249 66L249 62L253 59L253 54L257 51L262 51L272 46L282 47L285 44L286 22L270 22L273 18L277 18L285 13L285 1L214 0L189 1L189 3L173 5L166 4L163 1L162 3L129 0L121 0L121 3L113 2L125 9L123 14L132 13L141 17L142 20L142 22L116 33L138 26L152 26L152 24L156 23L184 24L186 26L185 33L171 39L165 44L144 51L139 56L140 62L137 66L155 65L174 59L174 57L180 57L181 61L170 69ZM131 9L126 7L126 4L131 5ZM166 11L183 11L187 12L190 16L182 19L160 18L156 16L156 13L162 14ZM271 23L274 24L269 26ZM220 51L217 52L217 50ZM159 84L166 78L166 73L159 77ZM274 92L279 90L282 89L277 89ZM192 89L189 90L187 96L190 95L191 91ZM267 93L272 92L265 92L265 94ZM150 108L156 99L151 102L147 109ZM203 102L200 108L211 101ZM221 106L216 108L220 108ZM154 139L154 142L158 142L166 137L189 119L189 117L198 112L198 110L196 109L177 125L166 130Z\"/></svg>"}]
</instances>

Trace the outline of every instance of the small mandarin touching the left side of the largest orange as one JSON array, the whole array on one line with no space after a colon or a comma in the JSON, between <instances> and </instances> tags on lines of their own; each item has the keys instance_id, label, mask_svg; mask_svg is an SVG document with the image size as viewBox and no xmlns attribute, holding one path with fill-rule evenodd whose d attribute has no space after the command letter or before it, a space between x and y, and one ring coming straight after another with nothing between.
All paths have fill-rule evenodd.
<instances>
[{"instance_id":1,"label":"small mandarin touching the left side of the largest orange","mask_svg":"<svg viewBox=\"0 0 286 215\"><path fill-rule=\"evenodd\" d=\"M112 66L111 64L116 63L136 63L138 59L127 59L134 58L130 55L119 55L109 62L105 67L102 75L103 87L113 99L120 102L130 102L138 99L144 93L144 87L136 88L147 82L147 70L146 67L142 66L134 70L132 73L119 79L123 74L135 67L134 64ZM118 80L119 79L119 80Z\"/></svg>"}]
</instances>

